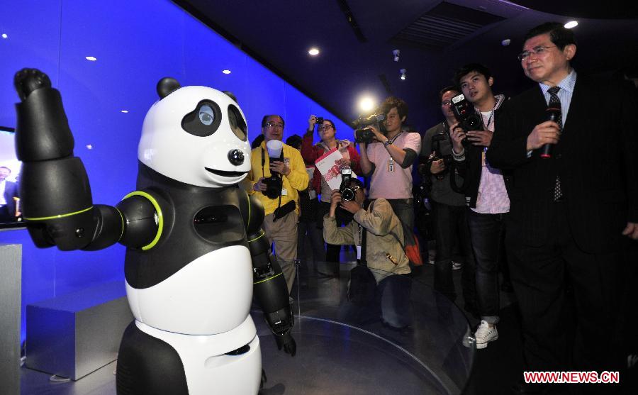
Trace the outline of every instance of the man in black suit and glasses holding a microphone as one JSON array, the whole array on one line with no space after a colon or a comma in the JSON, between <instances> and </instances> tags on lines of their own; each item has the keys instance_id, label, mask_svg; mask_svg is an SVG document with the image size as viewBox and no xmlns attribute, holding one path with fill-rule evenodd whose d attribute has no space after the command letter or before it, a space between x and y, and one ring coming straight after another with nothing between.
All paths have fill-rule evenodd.
<instances>
[{"instance_id":1,"label":"man in black suit and glasses holding a microphone","mask_svg":"<svg viewBox=\"0 0 638 395\"><path fill-rule=\"evenodd\" d=\"M497 111L486 155L513 171L505 243L528 370L618 370L620 250L624 236L638 239L637 103L620 85L576 74L574 55L560 23L527 33L519 60L538 85ZM555 122L548 106L560 111Z\"/></svg>"}]
</instances>

